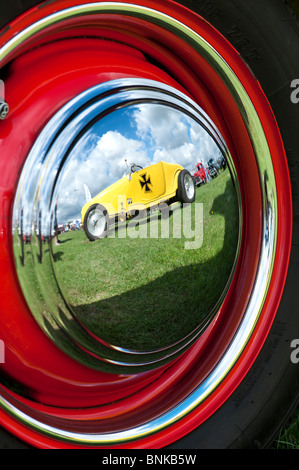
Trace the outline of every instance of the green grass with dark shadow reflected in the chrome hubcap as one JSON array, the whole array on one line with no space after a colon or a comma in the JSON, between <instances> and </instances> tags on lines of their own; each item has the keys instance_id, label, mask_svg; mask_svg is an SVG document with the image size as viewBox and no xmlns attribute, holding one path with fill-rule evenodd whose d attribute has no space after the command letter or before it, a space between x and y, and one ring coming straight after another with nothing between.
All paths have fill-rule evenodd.
<instances>
[{"instance_id":1,"label":"green grass with dark shadow reflected in the chrome hubcap","mask_svg":"<svg viewBox=\"0 0 299 470\"><path fill-rule=\"evenodd\" d=\"M138 350L181 339L211 312L222 294L236 253L238 213L228 171L197 190L203 204L203 244L188 239L115 238L91 243L83 230L67 232L54 249L55 273L72 310L100 338ZM186 209L185 209L186 210ZM195 205L192 207L195 228ZM157 229L161 220L156 220ZM150 218L137 230L149 233Z\"/></svg>"}]
</instances>

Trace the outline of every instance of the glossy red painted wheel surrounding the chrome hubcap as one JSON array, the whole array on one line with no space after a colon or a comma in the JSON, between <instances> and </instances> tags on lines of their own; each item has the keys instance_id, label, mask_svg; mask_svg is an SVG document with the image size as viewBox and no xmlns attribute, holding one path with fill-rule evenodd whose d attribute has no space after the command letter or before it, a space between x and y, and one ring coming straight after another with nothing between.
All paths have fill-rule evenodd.
<instances>
[{"instance_id":1,"label":"glossy red painted wheel surrounding the chrome hubcap","mask_svg":"<svg viewBox=\"0 0 299 470\"><path fill-rule=\"evenodd\" d=\"M58 0L55 2L55 8L79 3L78 0ZM252 366L274 320L283 291L290 253L292 204L285 152L274 116L259 84L238 54L208 23L174 2L141 0L138 3L152 6L188 24L226 59L242 81L259 113L271 148L275 172L280 175L277 179L279 250L274 266L275 275L259 327L229 377L220 384L213 395L181 422L133 444L135 448L136 445L140 448L157 448L179 439L213 414ZM50 2L43 8L35 8L32 13L23 15L2 35L2 43L32 21L49 14L52 9L53 3ZM99 81L127 76L154 78L171 85L175 82L168 74L149 64L136 49L110 43L107 52L107 43L97 39L84 40L82 43L68 40L49 44L20 57L11 67L6 80L6 97L11 114L9 119L1 123L0 128L3 139L0 141L0 337L6 346L4 371L25 384L28 396L35 401L32 402L30 398L28 401L17 398L24 406L28 404L36 408L37 413L47 412L58 417L89 420L114 416L116 426L118 423L126 426L132 424L132 419L134 422L137 419L142 420L143 415L150 418L155 415L156 410L162 412L163 409L168 409L171 403L183 398L203 380L213 366L215 358L225 350L242 318L255 279L262 207L259 193L256 191L259 179L251 142L236 105L219 76L202 57L195 55L189 46L171 33L163 32L160 27L134 18L118 18L122 27L115 29L115 20L112 15L101 17L101 28L94 30L95 36L98 34L125 41L126 44L142 49L163 63L169 74L171 73L180 84L179 87L188 90L218 126L235 161L242 190L245 222L241 256L225 302L205 335L174 364L165 370L143 374L141 377L118 377L86 369L65 357L44 337L33 320L14 271L10 220L14 191L22 164L35 137L51 117L49 109L54 114L85 88ZM90 18L90 24L92 23L95 26L96 18ZM137 34L136 31L140 27L141 33ZM59 33L59 37L67 34ZM153 36L157 38L157 43L150 39ZM107 53L104 53L103 49ZM93 50L101 50L104 54L101 63L95 59ZM242 155L242 159L238 158L239 155ZM112 401L114 403L111 403ZM90 408L78 409L86 405ZM99 405L102 406L98 408ZM67 444L57 444L45 436L23 428L4 412L0 412L0 421L16 435L38 447L71 447ZM91 426L92 424L96 425L96 421L91 421ZM109 426L109 423L107 425Z\"/></svg>"}]
</instances>

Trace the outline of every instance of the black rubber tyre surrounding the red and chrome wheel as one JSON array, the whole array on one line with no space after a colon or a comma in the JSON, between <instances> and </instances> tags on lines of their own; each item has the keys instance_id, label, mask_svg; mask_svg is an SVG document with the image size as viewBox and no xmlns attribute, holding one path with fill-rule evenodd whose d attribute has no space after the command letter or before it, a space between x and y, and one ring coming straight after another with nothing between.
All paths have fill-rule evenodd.
<instances>
[{"instance_id":1,"label":"black rubber tyre surrounding the red and chrome wheel","mask_svg":"<svg viewBox=\"0 0 299 470\"><path fill-rule=\"evenodd\" d=\"M0 26L40 2L0 0ZM291 83L299 79L298 20L283 0L181 0L177 3L210 22L241 54L259 81L277 120L287 152L293 198L291 261L283 296L266 342L231 397L196 430L170 448L265 448L299 402L298 364L291 343L299 338L299 113ZM183 173L183 172L182 172ZM178 199L185 201L182 185ZM192 202L192 201L187 201ZM88 236L88 235L87 235ZM5 431L1 448L26 447Z\"/></svg>"}]
</instances>

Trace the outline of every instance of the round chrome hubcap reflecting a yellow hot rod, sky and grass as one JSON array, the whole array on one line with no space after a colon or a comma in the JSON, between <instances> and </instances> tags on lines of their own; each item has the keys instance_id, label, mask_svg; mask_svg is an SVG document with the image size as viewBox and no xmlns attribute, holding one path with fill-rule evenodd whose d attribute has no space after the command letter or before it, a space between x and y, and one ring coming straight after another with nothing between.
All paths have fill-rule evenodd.
<instances>
[{"instance_id":1,"label":"round chrome hubcap reflecting a yellow hot rod, sky and grass","mask_svg":"<svg viewBox=\"0 0 299 470\"><path fill-rule=\"evenodd\" d=\"M158 122L157 116L159 117ZM89 122L91 125L88 124ZM111 122L113 122L113 128L111 128ZM127 128L125 128L125 122L127 122ZM133 123L135 124L133 125ZM168 129L172 135L176 129L181 129L181 134L176 137L177 147L172 142L171 148L169 148L169 138L167 135L165 136L165 131L161 133L161 126L164 126L165 131ZM125 135L129 135L129 132L130 138L125 137ZM77 138L78 133L81 136L80 139ZM193 140L189 139L189 135L193 136ZM110 140L112 136L113 141ZM114 147L118 141L119 148L116 149ZM153 142L156 145L153 146ZM160 224L157 212L155 212L155 205L158 197L163 201L165 194L167 194L167 187L172 181L172 176L167 177L165 172L172 170L165 169L163 174L159 170L159 166L153 165L154 170L151 173L151 165L160 156L160 158L171 162L168 164L169 166L165 163L167 169L172 169L183 162L192 168L196 161L194 159L200 152L198 146L202 142L206 142L206 145L211 147L212 154L219 153L224 156L231 172L227 170L226 173L223 173L223 178L215 180L214 185L211 184L210 187L207 185L210 190L206 196L202 196L201 190L198 190L196 203L192 205L189 212L186 207L181 214L181 209L178 210L174 204L171 209L173 215L170 212L169 217L164 218L163 224ZM186 147L190 149L191 158L190 155L182 157L182 150ZM126 166L131 168L132 165L127 165L124 156L132 156L134 151L134 158L138 158L139 165L142 164L139 168L144 167L144 169L127 174ZM82 155L84 155L84 159L82 159ZM147 166L148 160L150 160L150 166ZM92 171L90 171L91 168ZM125 175L118 180L124 171ZM57 178L57 174L59 174L59 178ZM98 178L95 178L95 175L98 175ZM240 211L238 193L234 189L234 187L238 187L238 182L236 180L234 184L232 183L234 175L235 170L229 151L212 121L187 96L161 83L127 79L107 82L87 90L62 108L45 127L33 146L20 178L14 208L14 247L19 279L25 295L26 292L32 291L32 286L28 283L34 282L40 285L41 297L44 296L48 299L48 307L45 309L42 307L43 301L33 301L32 296L27 295L27 301L33 315L57 346L89 367L111 372L123 370L133 373L134 371L153 369L171 361L200 337L218 311L237 258L238 237L241 228L238 221L238 212ZM82 184L82 180L84 184ZM193 197L195 187L191 176L185 175L183 183L188 197ZM119 199L120 205L123 202L128 203L130 193L127 191L130 192L131 187L133 187L133 199L134 194L139 195L140 199L136 202L143 204L147 204L148 200L153 202L149 219L145 219L138 225L132 219L128 225L124 221L123 225L120 224L116 228L109 229L113 231L107 234L108 238L96 244L100 252L97 256L92 255L91 269L87 268L90 257L88 251L93 250L92 253L94 253L96 248L86 244L86 239L80 235L80 230L61 235L61 241L65 237L68 242L60 244L58 248L53 246L51 236L57 219L59 219L58 223L62 222L62 225L65 225L76 216L76 211L77 214L80 213L84 202L84 185L91 188L93 196L100 190L102 190L100 194L103 194L103 197L111 193L112 199L109 199L109 204L114 199ZM227 189L228 186L230 189ZM173 196L175 196L176 189L173 191ZM228 192L230 196L228 196ZM169 197L171 202L171 195ZM216 263L217 259L214 258L213 261L213 257L217 250L223 249L225 233L228 229L221 222L223 219L217 215L217 212L221 212L223 206L219 205L218 200L226 197L232 197L235 201L231 206L231 214L226 213L224 217L225 224L231 224L232 220L235 221L231 225L234 244L231 245L231 254L225 263L225 274L222 274L221 282L217 287L212 287L212 285L207 285L207 277L205 280L200 280L200 266L201 263L205 265L208 263L210 269L213 269L213 263ZM88 204L92 204L93 201L94 199ZM131 201L129 200L129 202ZM134 201L132 200L132 202ZM134 207L134 204L128 203L129 213L131 207ZM108 207L107 210L110 217L112 209L109 210ZM210 210L212 210L213 216L209 213ZM77 219L78 217L77 215ZM205 223L213 226L214 220L219 228L212 241L212 246L210 246L210 238L205 236ZM192 229L193 223L195 223L195 230ZM91 235L96 238L101 237L105 231L105 224L106 218L102 209L100 207L92 209L87 218L87 228ZM28 234L28 238L31 240L26 249L23 249L26 259L22 265L18 261L23 243L23 237L21 237L21 244L19 239L20 227L22 227L22 233ZM39 227L39 231L36 231L36 227ZM44 239L49 239L51 243L49 251L51 256L48 259L43 256L42 263L40 262L40 252L44 253L46 250L41 243L40 235L43 235ZM164 247L166 259L168 247L172 245L173 240L178 239L180 244L177 244L176 247L177 256L172 261L169 259L163 269L161 263L156 266L156 249L154 252L147 251L144 238L150 239L153 247L155 239L161 238L163 245L160 249L162 246ZM116 242L117 244L115 244ZM39 247L38 250L36 246ZM72 251L72 246L76 249L75 252ZM136 246L133 252L131 246ZM103 250L107 253L105 261ZM115 253L119 253L119 256L115 257ZM138 253L142 253L142 255L139 256ZM88 273L88 281L84 289L80 288L76 293L78 300L74 298L73 294L72 275L66 276L64 274L66 269L64 265L71 265L74 256L78 260L78 271ZM36 258L33 265L27 262L28 257ZM111 259L114 261L112 262ZM126 264L120 263L119 259L127 260L123 261ZM132 263L136 267L138 266L140 273L143 272L144 275L138 274L137 279L134 276L130 281L129 273ZM147 270L144 268L144 263L147 265ZM188 272L194 263L196 264L193 269L198 272L199 276L197 281L194 275L190 277L190 280L193 279L192 282L196 282L194 289L212 291L213 294L205 303L198 301L196 315L192 309L188 314L187 310L189 309L187 309L182 315L180 303L176 302L178 309L173 310L172 316L177 317L174 323L177 332L174 333L173 327L172 333L169 325L167 330L162 325L155 325L154 318L157 316L155 311L161 309L163 312L161 318L165 320L166 315L169 315L169 299L176 295L171 287L172 277L175 279L177 271L176 282L179 284L181 265L183 264L184 269ZM109 271L105 272L106 266L109 264L118 274L114 275L114 281L112 279L108 281L114 286L114 289L110 288L105 292L102 279L110 279ZM222 259L221 264L223 264ZM34 275L36 266L38 266L38 273L36 272ZM120 270L121 266L124 271ZM119 268L117 269L117 267ZM169 275L169 271L173 271L172 276ZM150 283L147 272L152 272ZM52 286L51 294L49 288L47 292L43 289L43 285L40 283L41 275L44 282L47 279L48 285ZM128 286L125 289L122 287L124 277L127 278L126 284ZM164 296L159 293L159 278L165 284ZM154 289L155 293L150 294L155 282L157 283L157 287ZM213 277L208 282L214 284ZM92 294L97 285L97 294ZM129 310L125 300L127 298L126 292L134 285L139 286L140 295L136 296L134 308L129 303L131 305ZM184 295L190 287L190 285L183 287L182 284L181 290ZM81 294L81 290L86 291L86 297ZM146 294L147 292L148 294ZM93 295L94 302L91 303ZM142 303L141 299L144 296L148 298L148 305L151 305L150 308L147 307L148 318L153 317L153 321L149 321L148 324L148 333L146 333L147 327L142 315L140 320L136 320L135 331L130 336L121 332L118 334L118 328L111 329L108 324L103 323L104 300L107 303L111 297L109 303L113 308L114 298L117 299L119 296L123 311L122 324L126 324L126 316L128 316L128 324L132 321L130 319L132 312L135 312L136 315L138 312L142 313L144 302ZM161 306L164 297L165 308ZM190 305L193 300L191 296ZM181 308L186 309L186 307L185 302ZM44 312L42 317L40 316L41 310ZM91 311L92 315L89 314ZM98 313L95 313L97 311ZM62 314L63 322L61 322ZM98 316L96 322L94 322L95 315ZM190 317L190 321L184 325L186 315ZM70 319L73 320L71 332L67 329ZM58 330L48 327L53 321L59 325ZM164 321L163 324L165 325ZM84 325L85 328L82 329L81 325ZM66 331L73 339L74 344L69 342L66 346L65 342L61 341L59 330ZM87 335L86 331L91 331L92 335ZM155 339L156 336L157 339ZM147 340L140 342L142 337L147 337ZM81 348L78 348L78 345Z\"/></svg>"}]
</instances>

